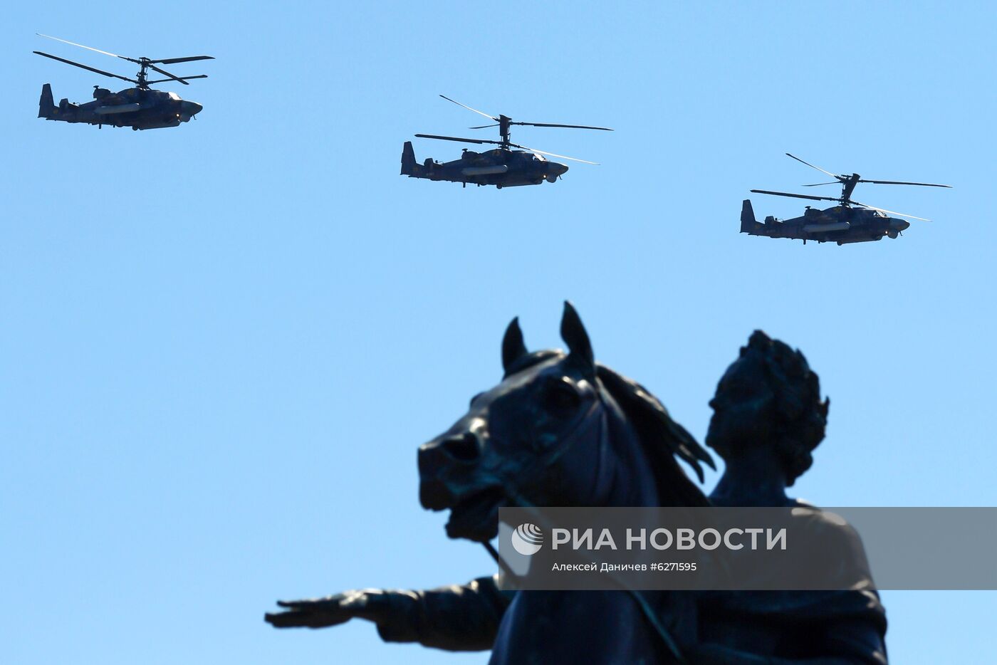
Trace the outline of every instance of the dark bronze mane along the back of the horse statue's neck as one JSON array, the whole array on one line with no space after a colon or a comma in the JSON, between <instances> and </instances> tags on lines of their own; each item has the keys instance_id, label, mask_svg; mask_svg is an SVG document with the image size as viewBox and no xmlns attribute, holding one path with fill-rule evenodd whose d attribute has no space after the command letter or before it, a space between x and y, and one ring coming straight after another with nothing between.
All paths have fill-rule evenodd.
<instances>
[{"instance_id":1,"label":"dark bronze mane along the back of the horse statue's neck","mask_svg":"<svg viewBox=\"0 0 997 665\"><path fill-rule=\"evenodd\" d=\"M703 482L703 462L716 469L713 458L689 432L672 420L665 405L636 381L605 365L596 364L596 376L623 410L654 465L662 505L708 506L709 499L683 473L675 457L692 467Z\"/></svg>"}]
</instances>

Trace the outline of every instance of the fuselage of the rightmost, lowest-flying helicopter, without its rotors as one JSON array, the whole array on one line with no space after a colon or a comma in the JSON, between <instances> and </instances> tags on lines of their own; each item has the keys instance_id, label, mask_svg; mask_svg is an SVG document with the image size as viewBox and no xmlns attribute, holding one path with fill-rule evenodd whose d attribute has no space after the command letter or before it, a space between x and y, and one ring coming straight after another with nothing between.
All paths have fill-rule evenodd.
<instances>
[{"instance_id":1,"label":"fuselage of the rightmost, lowest-flying helicopter, without its rotors","mask_svg":"<svg viewBox=\"0 0 997 665\"><path fill-rule=\"evenodd\" d=\"M820 210L808 206L803 216L791 219L755 219L751 200L745 199L741 208L741 232L764 235L770 238L794 238L817 242L872 242L883 237L896 238L910 226L906 219L890 217L878 210L835 205Z\"/></svg>"}]
</instances>

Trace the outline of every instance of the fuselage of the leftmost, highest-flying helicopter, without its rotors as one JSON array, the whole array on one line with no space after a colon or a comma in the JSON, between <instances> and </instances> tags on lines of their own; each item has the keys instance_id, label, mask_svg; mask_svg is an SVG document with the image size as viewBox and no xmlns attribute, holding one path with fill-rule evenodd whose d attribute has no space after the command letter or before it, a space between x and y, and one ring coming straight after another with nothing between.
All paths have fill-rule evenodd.
<instances>
[{"instance_id":1,"label":"fuselage of the leftmost, highest-flying helicopter, without its rotors","mask_svg":"<svg viewBox=\"0 0 997 665\"><path fill-rule=\"evenodd\" d=\"M42 87L38 117L64 123L84 123L103 127L131 127L133 130L154 130L177 127L196 116L201 106L181 100L176 93L159 90L127 88L118 93L95 88L95 100L86 104L71 104L63 99L53 103L52 87Z\"/></svg>"}]
</instances>

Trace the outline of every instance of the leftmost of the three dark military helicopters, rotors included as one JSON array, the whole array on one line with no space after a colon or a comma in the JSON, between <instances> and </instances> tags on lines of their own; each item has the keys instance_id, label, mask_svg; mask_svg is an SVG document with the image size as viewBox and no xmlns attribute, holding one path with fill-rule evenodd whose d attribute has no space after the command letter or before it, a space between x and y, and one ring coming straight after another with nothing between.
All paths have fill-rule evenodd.
<instances>
[{"instance_id":1,"label":"leftmost of the three dark military helicopters, rotors included","mask_svg":"<svg viewBox=\"0 0 997 665\"><path fill-rule=\"evenodd\" d=\"M65 44L72 44L73 46L79 46L80 48L88 49L90 51L97 51L98 53L103 53L106 56L121 58L122 60L136 63L140 67L136 78L129 79L128 77L112 74L111 72L105 72L93 67L88 67L87 65L81 65L80 63L75 63L72 60L66 60L65 58L52 56L48 53L35 51L34 53L37 53L40 56L45 56L46 58L51 58L52 60L58 60L61 63L66 63L67 65L73 65L74 67L80 67L90 72L96 72L97 74L102 74L114 79L121 79L122 81L128 81L136 84L135 88L127 88L118 93L112 93L107 88L94 86L95 101L87 102L86 104L70 104L69 100L63 99L59 103L59 106L56 106L53 102L52 86L45 84L42 86L42 97L38 101L39 118L44 118L45 120L57 120L65 123L86 123L87 125L96 125L98 128L110 125L111 127L131 127L136 131L155 130L161 127L177 127L180 123L185 123L196 116L202 108L196 102L181 100L176 93L164 93L159 90L151 90L150 86L157 83L165 83L166 81L178 81L184 86L188 86L190 84L188 84L187 81L191 79L206 79L207 76L204 74L198 74L197 76L173 76L166 70L157 67L157 65L172 65L175 63L190 62L192 60L214 60L211 56L166 58L164 60L151 60L145 57L127 58L125 56L119 56L107 51L101 51L100 49L84 46L83 44L67 42L65 39L59 39L58 37L50 37L49 35L42 34L39 34L38 36L54 39L57 42L63 42ZM147 76L148 70L159 72L165 76L166 79L150 81Z\"/></svg>"}]
</instances>

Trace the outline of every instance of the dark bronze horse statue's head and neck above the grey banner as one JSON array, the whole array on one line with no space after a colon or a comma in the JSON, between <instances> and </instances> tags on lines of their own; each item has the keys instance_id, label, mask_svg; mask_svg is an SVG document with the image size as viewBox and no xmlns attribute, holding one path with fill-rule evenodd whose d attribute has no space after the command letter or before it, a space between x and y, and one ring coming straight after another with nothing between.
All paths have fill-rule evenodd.
<instances>
[{"instance_id":1,"label":"dark bronze horse statue's head and neck above the grey banner","mask_svg":"<svg viewBox=\"0 0 997 665\"><path fill-rule=\"evenodd\" d=\"M451 509L451 537L495 537L502 505L708 504L676 457L702 481L710 455L643 386L595 362L568 302L560 333L566 353L530 353L512 319L501 383L420 448L420 499Z\"/></svg>"}]
</instances>

